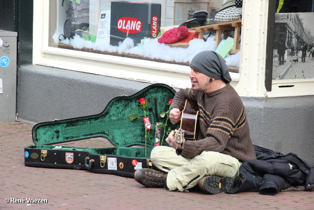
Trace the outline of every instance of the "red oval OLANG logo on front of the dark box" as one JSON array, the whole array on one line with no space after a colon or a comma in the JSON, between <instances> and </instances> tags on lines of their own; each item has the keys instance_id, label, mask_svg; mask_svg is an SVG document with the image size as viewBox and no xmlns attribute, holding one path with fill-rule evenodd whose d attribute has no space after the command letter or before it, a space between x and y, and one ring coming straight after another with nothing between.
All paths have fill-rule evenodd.
<instances>
[{"instance_id":1,"label":"red oval OLANG logo on front of the dark box","mask_svg":"<svg viewBox=\"0 0 314 210\"><path fill-rule=\"evenodd\" d=\"M142 22L131 17L119 18L118 30L124 33L138 33L142 31Z\"/></svg>"}]
</instances>

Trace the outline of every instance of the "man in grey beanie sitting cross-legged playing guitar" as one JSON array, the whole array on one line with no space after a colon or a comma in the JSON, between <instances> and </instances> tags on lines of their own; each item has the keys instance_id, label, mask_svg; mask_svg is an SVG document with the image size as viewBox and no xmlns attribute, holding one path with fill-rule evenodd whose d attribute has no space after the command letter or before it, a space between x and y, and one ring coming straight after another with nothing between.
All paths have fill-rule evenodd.
<instances>
[{"instance_id":1,"label":"man in grey beanie sitting cross-legged playing guitar","mask_svg":"<svg viewBox=\"0 0 314 210\"><path fill-rule=\"evenodd\" d=\"M175 95L169 113L180 121L186 99L196 101L200 110L197 141L175 141L170 132L166 142L151 152L151 160L160 171L139 169L134 179L147 187L165 187L185 191L199 184L210 194L228 191L240 178L242 162L255 160L244 105L229 84L226 61L214 51L198 53L190 62L191 88Z\"/></svg>"}]
</instances>

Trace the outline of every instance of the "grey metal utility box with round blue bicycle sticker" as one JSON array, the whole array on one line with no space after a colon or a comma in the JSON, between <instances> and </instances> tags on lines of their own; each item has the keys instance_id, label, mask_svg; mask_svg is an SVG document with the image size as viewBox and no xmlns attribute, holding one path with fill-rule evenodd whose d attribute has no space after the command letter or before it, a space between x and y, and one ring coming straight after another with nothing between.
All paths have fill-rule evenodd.
<instances>
[{"instance_id":1,"label":"grey metal utility box with round blue bicycle sticker","mask_svg":"<svg viewBox=\"0 0 314 210\"><path fill-rule=\"evenodd\" d=\"M0 30L0 121L16 118L17 32Z\"/></svg>"}]
</instances>

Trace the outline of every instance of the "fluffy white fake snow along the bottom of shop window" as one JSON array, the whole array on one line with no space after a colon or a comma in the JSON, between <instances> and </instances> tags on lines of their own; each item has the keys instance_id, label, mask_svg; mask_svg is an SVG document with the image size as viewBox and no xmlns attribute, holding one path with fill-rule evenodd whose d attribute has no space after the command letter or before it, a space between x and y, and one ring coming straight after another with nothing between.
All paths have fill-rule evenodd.
<instances>
[{"instance_id":1,"label":"fluffy white fake snow along the bottom of shop window","mask_svg":"<svg viewBox=\"0 0 314 210\"><path fill-rule=\"evenodd\" d=\"M95 42L84 40L79 35L75 35L70 40L66 38L60 42L63 44L72 45L77 49L88 48L93 50L106 51L109 53L125 53L138 55L149 59L160 59L172 62L190 62L199 52L205 50L214 51L216 49L214 34L210 35L206 41L203 39L192 39L188 43L187 48L170 47L166 44L158 43L157 39L158 38L151 38L150 41L145 42L143 46L141 44L134 45L134 42L131 38L126 38L123 42L119 43L119 46L112 46L109 44L96 46ZM58 36L53 35L53 40L58 42ZM225 58L227 65L239 67L239 55L239 53L233 56L228 55Z\"/></svg>"}]
</instances>

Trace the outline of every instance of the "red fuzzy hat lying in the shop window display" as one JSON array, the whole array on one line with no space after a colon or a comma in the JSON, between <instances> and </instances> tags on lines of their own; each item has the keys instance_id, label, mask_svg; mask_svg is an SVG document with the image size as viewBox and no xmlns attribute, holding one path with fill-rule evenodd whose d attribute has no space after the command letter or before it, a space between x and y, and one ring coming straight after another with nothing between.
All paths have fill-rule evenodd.
<instances>
[{"instance_id":1,"label":"red fuzzy hat lying in the shop window display","mask_svg":"<svg viewBox=\"0 0 314 210\"><path fill-rule=\"evenodd\" d=\"M186 26L180 26L165 31L161 37L158 38L159 43L172 44L188 36L188 29Z\"/></svg>"}]
</instances>

